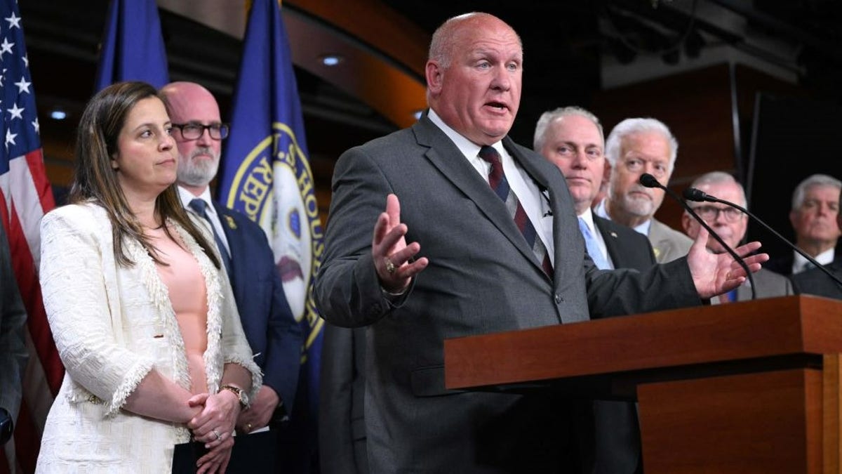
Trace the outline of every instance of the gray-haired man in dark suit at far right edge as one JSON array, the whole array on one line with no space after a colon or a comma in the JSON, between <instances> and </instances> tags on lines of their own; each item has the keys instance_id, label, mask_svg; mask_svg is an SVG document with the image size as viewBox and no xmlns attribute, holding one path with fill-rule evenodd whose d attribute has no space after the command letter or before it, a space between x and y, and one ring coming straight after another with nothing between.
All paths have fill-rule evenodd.
<instances>
[{"instance_id":1,"label":"gray-haired man in dark suit at far right edge","mask_svg":"<svg viewBox=\"0 0 842 474\"><path fill-rule=\"evenodd\" d=\"M822 265L837 260L839 251L839 196L842 181L830 175L809 175L792 191L789 218L795 230L795 245ZM787 250L764 266L781 275L795 275L813 267L796 251Z\"/></svg>"}]
</instances>

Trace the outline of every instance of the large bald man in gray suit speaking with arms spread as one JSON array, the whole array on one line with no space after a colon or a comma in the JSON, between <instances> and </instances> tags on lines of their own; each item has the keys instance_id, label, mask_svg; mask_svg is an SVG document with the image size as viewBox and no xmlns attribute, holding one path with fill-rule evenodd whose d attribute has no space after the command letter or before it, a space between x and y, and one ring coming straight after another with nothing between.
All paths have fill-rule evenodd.
<instances>
[{"instance_id":1,"label":"large bald man in gray suit speaking with arms spread","mask_svg":"<svg viewBox=\"0 0 842 474\"><path fill-rule=\"evenodd\" d=\"M702 234L687 258L647 272L594 267L561 172L507 137L522 65L500 19L446 21L425 67L428 112L336 164L315 296L329 322L370 325L372 472L582 467L575 402L447 390L444 340L700 304L745 278ZM749 257L752 270L766 258Z\"/></svg>"}]
</instances>

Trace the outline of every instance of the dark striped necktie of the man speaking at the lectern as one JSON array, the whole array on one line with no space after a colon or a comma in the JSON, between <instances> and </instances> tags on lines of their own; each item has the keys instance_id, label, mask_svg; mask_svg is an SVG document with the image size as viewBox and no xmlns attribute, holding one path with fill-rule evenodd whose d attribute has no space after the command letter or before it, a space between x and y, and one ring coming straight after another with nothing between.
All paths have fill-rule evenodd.
<instances>
[{"instance_id":1,"label":"dark striped necktie of the man speaking at the lectern","mask_svg":"<svg viewBox=\"0 0 842 474\"><path fill-rule=\"evenodd\" d=\"M512 216L514 224L520 229L520 234L523 234L526 244L530 246L538 261L541 262L541 268L552 278L552 263L550 263L550 256L546 254L546 246L538 237L538 233L526 215L524 207L520 205L518 197L514 195L514 191L509 189L509 181L506 180L506 175L503 172L500 154L493 147L484 146L479 150L479 157L491 164L491 170L488 171L488 185L491 186L497 197L505 203L509 215Z\"/></svg>"}]
</instances>

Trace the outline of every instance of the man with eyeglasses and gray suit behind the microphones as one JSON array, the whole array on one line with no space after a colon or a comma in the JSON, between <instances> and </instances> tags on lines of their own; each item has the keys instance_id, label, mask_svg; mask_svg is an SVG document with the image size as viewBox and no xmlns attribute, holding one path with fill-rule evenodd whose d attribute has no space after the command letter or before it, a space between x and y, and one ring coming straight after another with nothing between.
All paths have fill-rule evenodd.
<instances>
[{"instance_id":1,"label":"man with eyeglasses and gray suit behind the microphones","mask_svg":"<svg viewBox=\"0 0 842 474\"><path fill-rule=\"evenodd\" d=\"M743 186L737 180L734 180L732 175L728 175L722 171L711 171L710 173L701 175L690 186L704 191L711 196L733 202L741 207L746 207ZM749 216L733 207L718 202L688 202L688 204L732 249L736 248L740 241L743 240L746 229L749 226ZM701 229L701 224L696 222L686 211L681 216L681 225L691 239L695 239L695 236L699 234L699 229ZM707 250L716 254L727 251L712 236L707 239ZM793 294L792 284L789 278L775 272L770 272L765 268L761 268L753 276L754 293L757 295L757 298L772 298ZM746 280L742 286L726 294L721 294L717 298L720 303L751 299L749 280Z\"/></svg>"}]
</instances>

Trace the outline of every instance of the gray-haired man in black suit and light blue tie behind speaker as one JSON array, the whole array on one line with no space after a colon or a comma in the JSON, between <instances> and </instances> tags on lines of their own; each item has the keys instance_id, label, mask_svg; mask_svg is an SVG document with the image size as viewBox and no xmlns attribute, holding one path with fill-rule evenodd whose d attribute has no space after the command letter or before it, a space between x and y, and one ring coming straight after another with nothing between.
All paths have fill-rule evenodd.
<instances>
[{"instance_id":1,"label":"gray-haired man in black suit and light blue tie behind speaker","mask_svg":"<svg viewBox=\"0 0 842 474\"><path fill-rule=\"evenodd\" d=\"M605 176L605 138L588 110L544 112L535 129L535 150L562 171L568 183L588 255L600 269L646 270L657 263L646 235L594 216L590 205ZM637 407L626 401L594 401L594 474L642 471Z\"/></svg>"}]
</instances>

